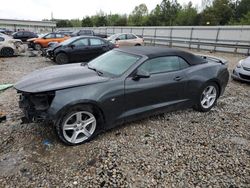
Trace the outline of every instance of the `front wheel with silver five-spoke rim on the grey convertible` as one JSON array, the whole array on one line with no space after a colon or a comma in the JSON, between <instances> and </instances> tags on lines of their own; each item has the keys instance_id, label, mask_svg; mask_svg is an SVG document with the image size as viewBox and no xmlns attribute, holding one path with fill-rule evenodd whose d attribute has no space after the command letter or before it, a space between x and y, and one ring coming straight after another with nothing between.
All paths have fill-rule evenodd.
<instances>
[{"instance_id":1,"label":"front wheel with silver five-spoke rim on the grey convertible","mask_svg":"<svg viewBox=\"0 0 250 188\"><path fill-rule=\"evenodd\" d=\"M100 132L101 124L99 113L91 106L76 105L63 113L55 126L60 140L74 146L94 138Z\"/></svg>"}]
</instances>

